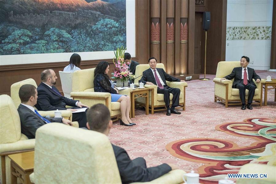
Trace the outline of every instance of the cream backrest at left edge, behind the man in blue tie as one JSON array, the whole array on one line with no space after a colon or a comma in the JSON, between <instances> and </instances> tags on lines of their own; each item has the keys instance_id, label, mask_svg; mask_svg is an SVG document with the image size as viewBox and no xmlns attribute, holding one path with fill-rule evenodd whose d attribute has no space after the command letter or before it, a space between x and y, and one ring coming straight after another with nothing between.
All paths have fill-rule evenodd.
<instances>
[{"instance_id":1,"label":"cream backrest at left edge, behind the man in blue tie","mask_svg":"<svg viewBox=\"0 0 276 184\"><path fill-rule=\"evenodd\" d=\"M21 124L17 108L8 95L0 96L0 143L14 143L21 137Z\"/></svg>"}]
</instances>

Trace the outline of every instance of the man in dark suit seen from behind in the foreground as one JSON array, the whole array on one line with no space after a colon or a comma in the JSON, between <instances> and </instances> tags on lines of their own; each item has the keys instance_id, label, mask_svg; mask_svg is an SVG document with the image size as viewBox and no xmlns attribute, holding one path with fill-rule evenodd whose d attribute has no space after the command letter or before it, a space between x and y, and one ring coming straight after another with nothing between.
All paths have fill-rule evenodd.
<instances>
[{"instance_id":1,"label":"man in dark suit seen from behind in the foreground","mask_svg":"<svg viewBox=\"0 0 276 184\"><path fill-rule=\"evenodd\" d=\"M87 111L87 127L90 130L108 135L112 120L108 108L103 104L96 104ZM122 183L149 182L159 178L167 172L178 169L174 164L161 164L156 167L146 166L146 160L142 157L131 160L121 147L112 144Z\"/></svg>"}]
</instances>

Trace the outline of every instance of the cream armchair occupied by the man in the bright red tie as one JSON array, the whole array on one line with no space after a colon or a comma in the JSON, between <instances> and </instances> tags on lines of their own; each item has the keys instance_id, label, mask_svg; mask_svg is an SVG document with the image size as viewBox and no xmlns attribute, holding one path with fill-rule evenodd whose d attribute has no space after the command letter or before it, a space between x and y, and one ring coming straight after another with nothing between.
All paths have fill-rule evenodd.
<instances>
[{"instance_id":1,"label":"cream armchair occupied by the man in the bright red tie","mask_svg":"<svg viewBox=\"0 0 276 184\"><path fill-rule=\"evenodd\" d=\"M232 88L234 79L222 80L220 82L220 79L224 76L229 75L235 67L240 67L240 61L220 61L216 69L216 78L213 79L213 81L215 82L215 102L220 101L225 104L225 107L228 107L228 105L241 105L239 89ZM257 88L255 89L255 96L253 97L253 101L260 101L262 93L261 83L265 82L265 80L262 79L261 82L259 82L258 84L255 80L254 82ZM245 90L245 94L245 100L247 102L247 89ZM253 102L253 104L259 104L260 106L262 106L260 102Z\"/></svg>"}]
</instances>

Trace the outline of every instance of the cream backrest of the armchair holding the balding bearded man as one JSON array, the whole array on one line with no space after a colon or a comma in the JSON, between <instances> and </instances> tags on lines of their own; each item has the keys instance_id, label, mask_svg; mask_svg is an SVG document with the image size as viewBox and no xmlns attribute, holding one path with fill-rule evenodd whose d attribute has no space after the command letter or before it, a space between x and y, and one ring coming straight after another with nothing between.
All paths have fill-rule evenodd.
<instances>
[{"instance_id":1,"label":"cream backrest of the armchair holding the balding bearded man","mask_svg":"<svg viewBox=\"0 0 276 184\"><path fill-rule=\"evenodd\" d=\"M10 97L13 99L15 107L18 107L21 103L18 92L19 88L24 84L32 84L37 88L37 83L33 79L26 79L12 84L10 86Z\"/></svg>"}]
</instances>

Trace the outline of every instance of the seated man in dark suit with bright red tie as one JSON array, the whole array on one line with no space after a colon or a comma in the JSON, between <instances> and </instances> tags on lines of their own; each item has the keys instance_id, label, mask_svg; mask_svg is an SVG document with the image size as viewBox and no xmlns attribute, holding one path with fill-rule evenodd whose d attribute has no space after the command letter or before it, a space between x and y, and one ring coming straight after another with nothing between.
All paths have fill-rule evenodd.
<instances>
[{"instance_id":1,"label":"seated man in dark suit with bright red tie","mask_svg":"<svg viewBox=\"0 0 276 184\"><path fill-rule=\"evenodd\" d=\"M252 110L252 100L255 95L255 89L256 85L252 79L255 79L256 83L259 83L261 81L261 77L258 76L255 73L254 69L251 69L247 67L249 64L249 57L242 56L240 65L241 67L236 67L233 69L232 73L221 78L220 82L222 80L231 80L233 78L234 82L232 85L232 88L238 88L239 89L239 97L242 101L242 110L245 110L245 89L248 89L248 101L247 101L247 108Z\"/></svg>"}]
</instances>

